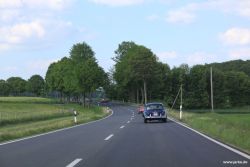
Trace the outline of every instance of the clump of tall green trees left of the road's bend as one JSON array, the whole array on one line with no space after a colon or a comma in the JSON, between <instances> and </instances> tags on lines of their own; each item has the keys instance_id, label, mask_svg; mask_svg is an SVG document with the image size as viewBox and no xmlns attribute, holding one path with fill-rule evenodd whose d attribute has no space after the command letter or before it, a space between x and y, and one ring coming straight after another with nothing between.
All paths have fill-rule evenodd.
<instances>
[{"instance_id":1,"label":"clump of tall green trees left of the road's bend","mask_svg":"<svg viewBox=\"0 0 250 167\"><path fill-rule=\"evenodd\" d=\"M52 63L46 73L50 92L59 92L61 99L82 102L97 88L108 85L108 76L98 65L91 47L83 43L73 45L70 57Z\"/></svg>"}]
</instances>

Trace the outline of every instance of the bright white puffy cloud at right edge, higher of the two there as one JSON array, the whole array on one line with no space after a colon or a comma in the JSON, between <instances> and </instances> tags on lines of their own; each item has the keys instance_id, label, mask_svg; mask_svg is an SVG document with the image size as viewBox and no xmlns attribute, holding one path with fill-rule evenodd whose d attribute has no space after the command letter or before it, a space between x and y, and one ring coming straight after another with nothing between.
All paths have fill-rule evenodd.
<instances>
[{"instance_id":1,"label":"bright white puffy cloud at right edge, higher of the two there","mask_svg":"<svg viewBox=\"0 0 250 167\"><path fill-rule=\"evenodd\" d=\"M250 29L230 28L221 33L219 38L226 45L247 45L250 44Z\"/></svg>"}]
</instances>

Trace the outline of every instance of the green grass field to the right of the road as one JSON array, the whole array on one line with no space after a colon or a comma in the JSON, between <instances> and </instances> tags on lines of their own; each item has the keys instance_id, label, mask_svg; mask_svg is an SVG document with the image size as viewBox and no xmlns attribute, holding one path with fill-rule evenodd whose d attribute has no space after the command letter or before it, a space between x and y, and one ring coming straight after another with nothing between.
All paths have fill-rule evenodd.
<instances>
[{"instance_id":1,"label":"green grass field to the right of the road","mask_svg":"<svg viewBox=\"0 0 250 167\"><path fill-rule=\"evenodd\" d=\"M179 112L169 111L179 119ZM250 107L235 109L188 110L183 112L182 122L208 136L250 153Z\"/></svg>"}]
</instances>

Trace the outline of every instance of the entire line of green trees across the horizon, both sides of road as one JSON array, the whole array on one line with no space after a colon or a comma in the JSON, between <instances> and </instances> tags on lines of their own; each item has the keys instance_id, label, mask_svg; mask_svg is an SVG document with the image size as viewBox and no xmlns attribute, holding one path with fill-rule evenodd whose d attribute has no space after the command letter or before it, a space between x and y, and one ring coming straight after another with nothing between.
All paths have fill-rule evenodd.
<instances>
[{"instance_id":1,"label":"entire line of green trees across the horizon, both sides of road","mask_svg":"<svg viewBox=\"0 0 250 167\"><path fill-rule=\"evenodd\" d=\"M149 48L132 41L120 43L114 53L115 65L106 73L98 65L92 48L85 42L77 43L70 49L69 57L50 64L45 79L33 75L27 81L20 77L0 80L0 95L56 94L64 102L76 101L85 105L86 97L102 88L112 100L162 101L171 106L182 85L183 107L209 108L212 67L215 108L250 105L249 60L193 67L182 64L171 69ZM177 100L176 106L178 103Z\"/></svg>"}]
</instances>

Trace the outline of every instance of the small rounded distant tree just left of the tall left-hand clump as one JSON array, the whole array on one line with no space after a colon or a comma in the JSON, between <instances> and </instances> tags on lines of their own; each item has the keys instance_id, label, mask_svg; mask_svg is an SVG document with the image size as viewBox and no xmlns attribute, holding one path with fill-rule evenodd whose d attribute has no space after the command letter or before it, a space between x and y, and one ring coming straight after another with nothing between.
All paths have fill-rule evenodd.
<instances>
[{"instance_id":1,"label":"small rounded distant tree just left of the tall left-hand clump","mask_svg":"<svg viewBox=\"0 0 250 167\"><path fill-rule=\"evenodd\" d=\"M28 90L36 96L41 96L44 92L45 81L40 75L33 75L28 80Z\"/></svg>"}]
</instances>

